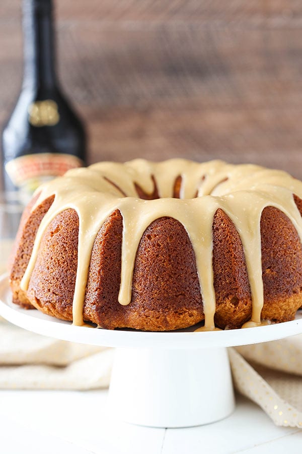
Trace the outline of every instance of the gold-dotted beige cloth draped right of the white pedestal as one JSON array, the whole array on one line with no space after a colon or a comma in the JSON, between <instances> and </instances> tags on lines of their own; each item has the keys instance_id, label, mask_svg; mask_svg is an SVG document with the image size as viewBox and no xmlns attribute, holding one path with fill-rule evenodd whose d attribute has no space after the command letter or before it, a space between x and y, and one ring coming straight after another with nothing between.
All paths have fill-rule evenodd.
<instances>
[{"instance_id":1,"label":"gold-dotted beige cloth draped right of the white pedestal","mask_svg":"<svg viewBox=\"0 0 302 454\"><path fill-rule=\"evenodd\" d=\"M239 392L277 426L302 429L302 335L229 349Z\"/></svg>"}]
</instances>

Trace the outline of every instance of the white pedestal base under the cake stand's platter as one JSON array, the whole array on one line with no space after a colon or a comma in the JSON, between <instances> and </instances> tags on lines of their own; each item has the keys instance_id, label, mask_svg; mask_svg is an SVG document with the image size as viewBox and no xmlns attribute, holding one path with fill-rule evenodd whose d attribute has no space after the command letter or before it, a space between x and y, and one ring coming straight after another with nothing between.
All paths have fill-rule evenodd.
<instances>
[{"instance_id":1,"label":"white pedestal base under the cake stand's platter","mask_svg":"<svg viewBox=\"0 0 302 454\"><path fill-rule=\"evenodd\" d=\"M115 352L109 388L114 418L152 427L188 427L235 408L226 348L123 349Z\"/></svg>"}]
</instances>

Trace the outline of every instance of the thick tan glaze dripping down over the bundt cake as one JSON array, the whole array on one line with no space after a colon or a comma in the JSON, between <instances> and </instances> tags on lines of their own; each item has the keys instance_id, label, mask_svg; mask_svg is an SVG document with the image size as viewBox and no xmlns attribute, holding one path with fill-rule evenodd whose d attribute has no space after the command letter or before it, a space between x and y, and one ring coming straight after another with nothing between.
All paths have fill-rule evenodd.
<instances>
[{"instance_id":1,"label":"thick tan glaze dripping down over the bundt cake","mask_svg":"<svg viewBox=\"0 0 302 454\"><path fill-rule=\"evenodd\" d=\"M179 176L182 178L182 200L172 198L175 180ZM137 198L135 184L146 194L151 194L154 191L153 178L161 198ZM261 324L260 219L263 209L266 206L280 209L291 220L302 240L301 216L292 196L302 197L302 183L285 172L252 164L231 165L218 160L199 164L186 159L159 163L143 159L125 164L102 162L88 168L72 169L38 191L40 195L33 210L53 194L55 199L39 226L21 288L28 289L48 224L59 212L73 208L79 216L78 269L72 310L74 325L83 325L83 305L94 240L107 217L116 209L123 218L119 303L127 305L131 301L136 251L147 226L160 217L173 217L184 226L193 246L205 316L203 329L206 330L215 329L212 224L218 208L235 224L244 248L253 307L251 320L244 326ZM122 197L123 193L127 197Z\"/></svg>"}]
</instances>

